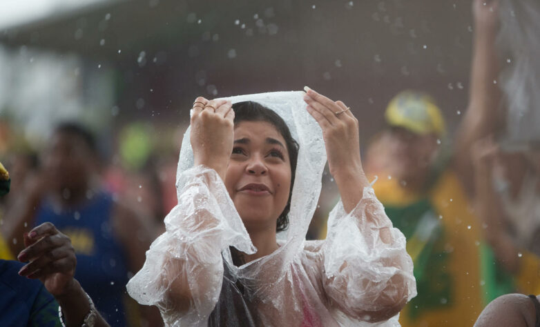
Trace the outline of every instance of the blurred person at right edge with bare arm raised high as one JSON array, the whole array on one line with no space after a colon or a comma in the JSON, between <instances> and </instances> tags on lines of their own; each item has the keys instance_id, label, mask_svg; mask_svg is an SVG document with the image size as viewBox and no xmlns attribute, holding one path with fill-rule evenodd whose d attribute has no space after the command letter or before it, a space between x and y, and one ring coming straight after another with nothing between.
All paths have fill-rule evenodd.
<instances>
[{"instance_id":1,"label":"blurred person at right edge with bare arm raised high","mask_svg":"<svg viewBox=\"0 0 540 327\"><path fill-rule=\"evenodd\" d=\"M534 140L511 144L505 132L501 95L498 3L474 1L474 54L470 103L457 146L463 175L487 246L481 248L485 302L505 293L540 293L540 152ZM536 145L538 145L536 140Z\"/></svg>"}]
</instances>

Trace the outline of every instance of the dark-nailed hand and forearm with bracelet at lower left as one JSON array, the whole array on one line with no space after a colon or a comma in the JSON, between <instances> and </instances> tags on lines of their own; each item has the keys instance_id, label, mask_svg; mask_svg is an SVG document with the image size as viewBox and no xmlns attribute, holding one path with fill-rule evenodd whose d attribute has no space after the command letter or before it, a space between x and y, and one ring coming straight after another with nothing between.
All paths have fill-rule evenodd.
<instances>
[{"instance_id":1,"label":"dark-nailed hand and forearm with bracelet at lower left","mask_svg":"<svg viewBox=\"0 0 540 327\"><path fill-rule=\"evenodd\" d=\"M20 261L29 261L19 275L39 279L61 306L66 326L81 326L90 313L90 301L73 276L77 258L69 237L53 224L44 223L23 235L26 248L19 253ZM97 310L95 326L109 326Z\"/></svg>"}]
</instances>

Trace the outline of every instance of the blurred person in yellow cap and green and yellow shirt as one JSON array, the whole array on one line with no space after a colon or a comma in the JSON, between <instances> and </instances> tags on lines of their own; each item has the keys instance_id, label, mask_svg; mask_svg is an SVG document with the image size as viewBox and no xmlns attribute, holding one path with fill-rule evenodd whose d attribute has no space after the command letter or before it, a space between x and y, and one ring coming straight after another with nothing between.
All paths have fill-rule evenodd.
<instances>
[{"instance_id":1,"label":"blurred person in yellow cap and green and yellow shirt","mask_svg":"<svg viewBox=\"0 0 540 327\"><path fill-rule=\"evenodd\" d=\"M472 326L483 308L479 228L446 150L446 127L434 99L399 93L387 127L370 142L367 174L394 227L407 238L418 295L402 326Z\"/></svg>"}]
</instances>

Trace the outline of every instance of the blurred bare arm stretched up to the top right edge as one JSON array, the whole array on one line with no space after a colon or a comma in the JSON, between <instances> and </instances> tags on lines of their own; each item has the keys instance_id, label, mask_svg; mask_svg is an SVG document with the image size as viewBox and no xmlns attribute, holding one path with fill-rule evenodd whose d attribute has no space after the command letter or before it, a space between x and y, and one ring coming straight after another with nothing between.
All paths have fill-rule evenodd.
<instances>
[{"instance_id":1,"label":"blurred bare arm stretched up to the top right edge","mask_svg":"<svg viewBox=\"0 0 540 327\"><path fill-rule=\"evenodd\" d=\"M470 159L472 144L490 134L500 125L501 90L496 83L499 58L495 38L498 24L497 2L474 0L474 42L470 76L470 95L463 121L456 132L453 165L469 195L474 191L473 167Z\"/></svg>"}]
</instances>

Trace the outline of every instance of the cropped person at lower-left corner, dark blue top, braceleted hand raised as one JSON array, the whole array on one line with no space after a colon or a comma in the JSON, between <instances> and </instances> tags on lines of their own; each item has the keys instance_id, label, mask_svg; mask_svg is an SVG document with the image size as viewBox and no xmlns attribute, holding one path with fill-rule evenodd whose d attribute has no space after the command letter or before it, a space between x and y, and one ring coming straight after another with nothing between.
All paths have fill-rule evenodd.
<instances>
[{"instance_id":1,"label":"cropped person at lower-left corner, dark blue top, braceleted hand raised","mask_svg":"<svg viewBox=\"0 0 540 327\"><path fill-rule=\"evenodd\" d=\"M0 198L9 191L10 175L0 162ZM77 258L70 239L50 223L23 239L18 258L28 264L0 258L0 325L108 326L73 278Z\"/></svg>"}]
</instances>

